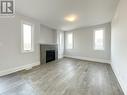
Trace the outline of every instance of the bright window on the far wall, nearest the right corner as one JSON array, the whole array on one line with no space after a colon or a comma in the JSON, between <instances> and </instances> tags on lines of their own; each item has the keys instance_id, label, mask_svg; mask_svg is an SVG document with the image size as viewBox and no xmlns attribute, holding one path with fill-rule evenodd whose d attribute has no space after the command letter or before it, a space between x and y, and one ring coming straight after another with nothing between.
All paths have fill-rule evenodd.
<instances>
[{"instance_id":1,"label":"bright window on the far wall, nearest the right corner","mask_svg":"<svg viewBox=\"0 0 127 95\"><path fill-rule=\"evenodd\" d=\"M104 29L94 31L94 49L104 50Z\"/></svg>"}]
</instances>

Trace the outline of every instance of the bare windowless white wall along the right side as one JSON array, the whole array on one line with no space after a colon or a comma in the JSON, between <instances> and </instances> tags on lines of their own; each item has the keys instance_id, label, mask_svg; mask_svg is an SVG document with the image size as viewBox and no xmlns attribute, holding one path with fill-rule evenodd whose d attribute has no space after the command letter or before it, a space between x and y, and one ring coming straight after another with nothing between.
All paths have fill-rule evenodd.
<instances>
[{"instance_id":1,"label":"bare windowless white wall along the right side","mask_svg":"<svg viewBox=\"0 0 127 95\"><path fill-rule=\"evenodd\" d=\"M120 0L112 20L112 67L127 95L127 0Z\"/></svg>"}]
</instances>

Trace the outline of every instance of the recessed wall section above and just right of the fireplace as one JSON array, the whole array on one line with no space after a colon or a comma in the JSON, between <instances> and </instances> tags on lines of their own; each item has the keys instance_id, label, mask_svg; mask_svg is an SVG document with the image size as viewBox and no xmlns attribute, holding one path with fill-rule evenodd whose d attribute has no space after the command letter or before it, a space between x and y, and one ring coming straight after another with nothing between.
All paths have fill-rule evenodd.
<instances>
[{"instance_id":1,"label":"recessed wall section above and just right of the fireplace","mask_svg":"<svg viewBox=\"0 0 127 95\"><path fill-rule=\"evenodd\" d=\"M60 34L62 42L60 44ZM58 58L63 58L64 55L64 32L56 31L44 25L40 25L40 43L41 44L58 44Z\"/></svg>"}]
</instances>

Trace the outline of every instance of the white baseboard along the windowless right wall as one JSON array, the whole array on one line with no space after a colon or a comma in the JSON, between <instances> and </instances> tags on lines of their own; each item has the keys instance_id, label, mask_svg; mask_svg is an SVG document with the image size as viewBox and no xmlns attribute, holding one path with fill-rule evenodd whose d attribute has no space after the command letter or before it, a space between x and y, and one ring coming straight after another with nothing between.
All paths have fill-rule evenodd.
<instances>
[{"instance_id":1,"label":"white baseboard along the windowless right wall","mask_svg":"<svg viewBox=\"0 0 127 95\"><path fill-rule=\"evenodd\" d=\"M111 63L111 67L112 67L114 74L116 75L116 77L118 79L118 82L119 82L119 84L120 84L120 86L124 92L124 95L127 95L127 90L126 90L127 88L124 86L124 83L123 83L122 79L120 78L119 73L116 71L116 69L114 68L112 63Z\"/></svg>"}]
</instances>

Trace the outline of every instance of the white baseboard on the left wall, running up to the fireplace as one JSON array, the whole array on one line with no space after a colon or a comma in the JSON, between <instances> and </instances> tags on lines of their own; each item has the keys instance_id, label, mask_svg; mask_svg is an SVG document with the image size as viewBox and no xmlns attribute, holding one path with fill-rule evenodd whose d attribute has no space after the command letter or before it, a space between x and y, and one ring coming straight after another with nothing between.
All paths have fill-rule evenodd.
<instances>
[{"instance_id":1,"label":"white baseboard on the left wall, running up to the fireplace","mask_svg":"<svg viewBox=\"0 0 127 95\"><path fill-rule=\"evenodd\" d=\"M0 71L0 76L8 75L8 74L15 73L15 72L18 72L18 71L21 71L21 70L29 70L32 67L38 66L38 65L40 65L40 62L27 64L27 65L24 65L24 66L20 66L20 67Z\"/></svg>"}]
</instances>

